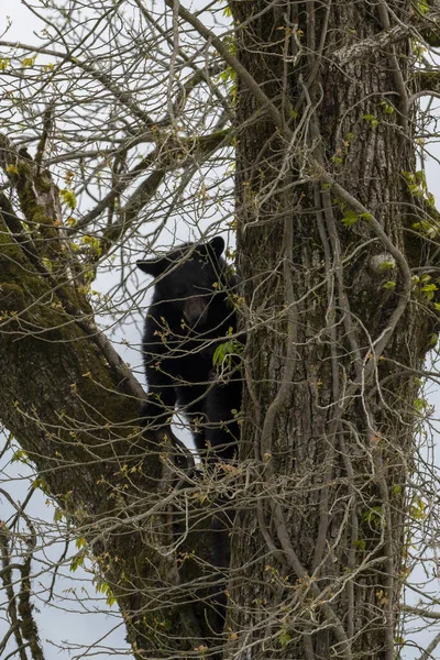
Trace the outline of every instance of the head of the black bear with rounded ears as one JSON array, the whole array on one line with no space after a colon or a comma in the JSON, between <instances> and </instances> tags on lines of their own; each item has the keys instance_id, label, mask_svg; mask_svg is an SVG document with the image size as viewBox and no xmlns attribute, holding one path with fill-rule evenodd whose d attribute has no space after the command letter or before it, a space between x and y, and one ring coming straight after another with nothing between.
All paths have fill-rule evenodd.
<instances>
[{"instance_id":1,"label":"head of the black bear with rounded ears","mask_svg":"<svg viewBox=\"0 0 440 660\"><path fill-rule=\"evenodd\" d=\"M184 243L163 256L138 261L136 266L155 278L155 300L166 301L195 328L207 322L209 305L221 289L223 250L223 239L216 237L208 243Z\"/></svg>"}]
</instances>

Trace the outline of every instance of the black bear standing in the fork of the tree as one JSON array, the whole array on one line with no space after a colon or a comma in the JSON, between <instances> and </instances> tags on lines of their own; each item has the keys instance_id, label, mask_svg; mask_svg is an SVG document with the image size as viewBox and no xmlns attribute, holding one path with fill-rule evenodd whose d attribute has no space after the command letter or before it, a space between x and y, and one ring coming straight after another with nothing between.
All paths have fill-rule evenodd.
<instances>
[{"instance_id":1,"label":"black bear standing in the fork of the tree","mask_svg":"<svg viewBox=\"0 0 440 660\"><path fill-rule=\"evenodd\" d=\"M142 343L148 400L141 417L165 427L176 404L182 406L199 453L212 448L210 460L233 458L239 427L232 410L241 406L240 377L222 383L212 376L216 349L237 331L230 300L237 279L223 250L216 237L136 262L155 278Z\"/></svg>"}]
</instances>

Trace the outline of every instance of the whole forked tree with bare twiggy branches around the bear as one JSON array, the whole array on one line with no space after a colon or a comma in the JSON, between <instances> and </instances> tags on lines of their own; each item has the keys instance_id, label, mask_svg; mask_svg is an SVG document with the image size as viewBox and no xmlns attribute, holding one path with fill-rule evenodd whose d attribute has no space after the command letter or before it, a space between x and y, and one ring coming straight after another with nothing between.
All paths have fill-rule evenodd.
<instances>
[{"instance_id":1,"label":"whole forked tree with bare twiggy branches around the bear","mask_svg":"<svg viewBox=\"0 0 440 660\"><path fill-rule=\"evenodd\" d=\"M438 97L436 3L24 4L44 24L35 45L0 42L0 416L77 540L62 560L94 561L138 658L392 660L403 584L437 552L420 432L437 378L436 123L419 106ZM138 367L109 338L139 351L145 248L227 228L242 441L237 463L195 473L141 433ZM234 517L227 578L219 508ZM14 636L22 660L43 653L24 509L1 536L1 644ZM406 609L436 619L424 591Z\"/></svg>"}]
</instances>

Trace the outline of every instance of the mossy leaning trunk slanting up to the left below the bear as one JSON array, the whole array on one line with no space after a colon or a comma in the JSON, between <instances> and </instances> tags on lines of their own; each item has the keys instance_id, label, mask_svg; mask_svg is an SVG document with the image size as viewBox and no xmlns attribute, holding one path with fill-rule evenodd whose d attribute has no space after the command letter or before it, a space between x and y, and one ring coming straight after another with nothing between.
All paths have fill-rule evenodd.
<instances>
[{"instance_id":1,"label":"mossy leaning trunk slanting up to the left below the bear","mask_svg":"<svg viewBox=\"0 0 440 660\"><path fill-rule=\"evenodd\" d=\"M173 648L163 639L166 619L177 648L196 647L200 625L182 593L176 556L165 551L179 519L170 517L179 491L169 495L176 480L166 468L169 441L145 438L136 426L143 391L94 324L81 276L72 273L69 243L53 221L57 187L6 139L2 147L26 222L3 200L1 421L36 466L40 486L87 539L87 554L118 600L134 652ZM44 261L47 246L51 261ZM207 513L200 517L199 527L209 529ZM188 536L185 516L179 529ZM197 547L196 557L210 558L206 536L188 543ZM184 582L187 572L188 581L194 578L193 563L180 570ZM199 587L198 597L204 593ZM161 605L163 594L169 600Z\"/></svg>"}]
</instances>

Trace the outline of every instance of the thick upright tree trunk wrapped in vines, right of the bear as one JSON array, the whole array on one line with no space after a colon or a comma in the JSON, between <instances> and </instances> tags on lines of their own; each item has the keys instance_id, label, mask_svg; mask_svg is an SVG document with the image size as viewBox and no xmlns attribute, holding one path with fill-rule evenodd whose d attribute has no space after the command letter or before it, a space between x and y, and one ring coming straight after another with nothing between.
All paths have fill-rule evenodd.
<instances>
[{"instance_id":1,"label":"thick upright tree trunk wrapped in vines, right of the bear","mask_svg":"<svg viewBox=\"0 0 440 660\"><path fill-rule=\"evenodd\" d=\"M404 16L404 4L388 7ZM252 476L237 504L229 653L392 660L414 370L435 329L420 287L409 299L409 268L430 263L408 186L409 40L341 68L338 52L388 28L382 3L232 7L237 58L272 108L239 79Z\"/></svg>"}]
</instances>

